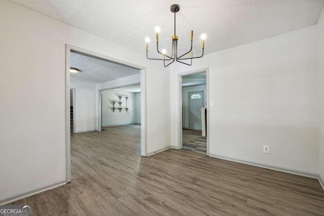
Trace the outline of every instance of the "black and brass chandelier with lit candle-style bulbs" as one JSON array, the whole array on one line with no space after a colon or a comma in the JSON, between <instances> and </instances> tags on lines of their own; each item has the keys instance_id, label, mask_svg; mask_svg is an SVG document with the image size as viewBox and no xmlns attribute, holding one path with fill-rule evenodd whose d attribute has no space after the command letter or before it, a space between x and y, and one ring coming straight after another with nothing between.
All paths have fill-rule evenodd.
<instances>
[{"instance_id":1,"label":"black and brass chandelier with lit candle-style bulbs","mask_svg":"<svg viewBox=\"0 0 324 216\"><path fill-rule=\"evenodd\" d=\"M201 35L201 40L203 40L203 45L201 46L201 48L203 49L203 53L201 54L201 56L198 57L192 57L192 38L193 38L193 31L191 30L191 48L188 52L186 52L185 54L181 55L178 57L178 36L176 35L176 13L180 11L180 6L179 5L172 5L170 7L170 11L172 13L174 13L174 35L171 37L172 39L172 52L171 55L167 55L167 51L165 49L161 50L161 52L158 50L158 32L160 31L160 27L156 26L155 27L155 32L156 32L156 50L157 53L161 54L163 56L163 58L161 59L154 59L154 58L149 58L148 57L148 43L150 41L149 37L145 38L146 41L146 58L150 59L150 60L162 60L164 63L164 67L169 66L170 64L172 64L174 61L180 62L182 64L186 64L186 65L191 65L192 64L192 59L197 59L197 58L201 58L204 56L204 48L205 48L205 39L206 39L206 34L202 34ZM185 55L190 53L190 58L186 58ZM190 64L189 63L185 63L182 60L188 60L190 59ZM167 61L167 64L166 64ZM170 62L171 61L171 62Z\"/></svg>"}]
</instances>

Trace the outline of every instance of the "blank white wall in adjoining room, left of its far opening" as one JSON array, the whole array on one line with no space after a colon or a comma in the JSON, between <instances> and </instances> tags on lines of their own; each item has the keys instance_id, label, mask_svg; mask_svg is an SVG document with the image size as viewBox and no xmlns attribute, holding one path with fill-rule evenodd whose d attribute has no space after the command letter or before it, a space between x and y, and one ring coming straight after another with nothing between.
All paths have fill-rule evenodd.
<instances>
[{"instance_id":1,"label":"blank white wall in adjoining room, left of its far opening","mask_svg":"<svg viewBox=\"0 0 324 216\"><path fill-rule=\"evenodd\" d=\"M70 82L75 89L75 133L96 129L96 84L92 82Z\"/></svg>"}]
</instances>

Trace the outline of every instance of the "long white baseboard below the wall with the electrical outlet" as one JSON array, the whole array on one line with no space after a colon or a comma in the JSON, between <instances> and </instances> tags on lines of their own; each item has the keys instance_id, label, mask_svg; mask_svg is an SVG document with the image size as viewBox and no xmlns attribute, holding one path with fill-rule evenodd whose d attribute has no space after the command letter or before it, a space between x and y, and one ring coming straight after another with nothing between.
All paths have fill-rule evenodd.
<instances>
[{"instance_id":1,"label":"long white baseboard below the wall with the electrical outlet","mask_svg":"<svg viewBox=\"0 0 324 216\"><path fill-rule=\"evenodd\" d=\"M237 162L237 163L244 163L244 164L248 164L248 165L252 165L252 166L258 166L261 168L272 169L272 170L281 171L281 172L287 172L289 174L295 174L298 176L305 176L305 177L309 177L309 178L313 178L313 179L318 179L318 174L315 174L313 172L306 172L306 171L301 171L301 170L297 170L297 169L284 168L284 167L280 167L280 166L272 166L272 165L268 165L268 164L257 163L257 162L247 161L247 160L241 160L241 159L226 157L226 156L222 156L222 155L210 154L209 156L223 159L223 160L229 160L229 161L233 161L233 162Z\"/></svg>"}]
</instances>

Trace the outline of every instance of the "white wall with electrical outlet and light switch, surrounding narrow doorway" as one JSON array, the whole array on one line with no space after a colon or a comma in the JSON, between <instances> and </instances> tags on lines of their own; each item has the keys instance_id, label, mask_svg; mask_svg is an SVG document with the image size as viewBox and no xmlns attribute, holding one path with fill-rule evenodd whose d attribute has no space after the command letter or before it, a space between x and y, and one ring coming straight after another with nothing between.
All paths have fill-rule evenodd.
<instances>
[{"instance_id":1,"label":"white wall with electrical outlet and light switch, surrounding narrow doorway","mask_svg":"<svg viewBox=\"0 0 324 216\"><path fill-rule=\"evenodd\" d=\"M209 67L211 155L318 173L317 46L313 25L206 55L191 67L173 65L172 145L179 136L177 73Z\"/></svg>"}]
</instances>

